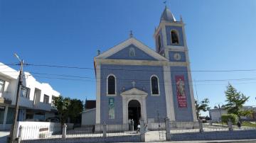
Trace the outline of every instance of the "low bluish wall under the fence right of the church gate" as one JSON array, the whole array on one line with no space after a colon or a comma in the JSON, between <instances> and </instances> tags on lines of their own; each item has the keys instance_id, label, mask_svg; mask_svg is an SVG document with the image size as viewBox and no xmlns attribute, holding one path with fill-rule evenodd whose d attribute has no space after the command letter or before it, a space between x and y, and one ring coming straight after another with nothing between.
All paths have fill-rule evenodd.
<instances>
[{"instance_id":1,"label":"low bluish wall under the fence right of the church gate","mask_svg":"<svg viewBox=\"0 0 256 143\"><path fill-rule=\"evenodd\" d=\"M190 140L223 140L223 139L256 139L256 130L191 132L172 134L172 141Z\"/></svg>"}]
</instances>

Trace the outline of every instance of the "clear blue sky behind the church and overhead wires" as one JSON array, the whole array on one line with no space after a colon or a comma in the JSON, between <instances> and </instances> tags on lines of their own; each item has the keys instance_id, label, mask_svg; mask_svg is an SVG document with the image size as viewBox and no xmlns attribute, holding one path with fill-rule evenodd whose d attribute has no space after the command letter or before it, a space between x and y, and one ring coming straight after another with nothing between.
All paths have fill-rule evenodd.
<instances>
[{"instance_id":1,"label":"clear blue sky behind the church and overhead wires","mask_svg":"<svg viewBox=\"0 0 256 143\"><path fill-rule=\"evenodd\" d=\"M256 69L256 1L172 0L171 11L186 23L192 70ZM0 0L0 62L17 62L14 52L31 64L54 64L93 68L97 50L105 51L129 37L155 47L154 28L159 24L163 1L10 1ZM18 69L18 67L14 67ZM95 99L92 69L25 67L26 71L88 76L86 81L48 79L60 77L33 74L50 83L63 96ZM195 80L253 79L229 81L250 96L256 105L256 71L198 72ZM71 78L75 79L75 78ZM79 78L82 79L82 78ZM225 103L225 81L196 82L198 99Z\"/></svg>"}]
</instances>

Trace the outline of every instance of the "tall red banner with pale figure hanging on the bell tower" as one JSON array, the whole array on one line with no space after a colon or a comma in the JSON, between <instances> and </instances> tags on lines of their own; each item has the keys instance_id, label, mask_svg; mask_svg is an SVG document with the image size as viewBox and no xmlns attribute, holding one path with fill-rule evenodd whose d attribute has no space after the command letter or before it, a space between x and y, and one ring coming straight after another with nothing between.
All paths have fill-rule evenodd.
<instances>
[{"instance_id":1,"label":"tall red banner with pale figure hanging on the bell tower","mask_svg":"<svg viewBox=\"0 0 256 143\"><path fill-rule=\"evenodd\" d=\"M176 80L176 93L178 98L178 107L179 108L186 108L187 101L186 101L186 91L185 91L185 81L184 76L175 76Z\"/></svg>"}]
</instances>

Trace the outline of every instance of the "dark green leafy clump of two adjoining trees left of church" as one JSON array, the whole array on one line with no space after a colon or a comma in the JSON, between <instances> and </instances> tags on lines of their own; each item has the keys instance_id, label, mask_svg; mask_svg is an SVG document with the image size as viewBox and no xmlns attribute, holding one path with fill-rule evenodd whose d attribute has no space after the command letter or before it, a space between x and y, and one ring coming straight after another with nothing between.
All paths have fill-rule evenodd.
<instances>
[{"instance_id":1,"label":"dark green leafy clump of two adjoining trees left of church","mask_svg":"<svg viewBox=\"0 0 256 143\"><path fill-rule=\"evenodd\" d=\"M82 104L82 101L78 99L63 98L63 96L56 97L53 100L53 105L58 110L62 125L68 118L75 122L76 118L78 118L78 115L80 115L83 110Z\"/></svg>"}]
</instances>

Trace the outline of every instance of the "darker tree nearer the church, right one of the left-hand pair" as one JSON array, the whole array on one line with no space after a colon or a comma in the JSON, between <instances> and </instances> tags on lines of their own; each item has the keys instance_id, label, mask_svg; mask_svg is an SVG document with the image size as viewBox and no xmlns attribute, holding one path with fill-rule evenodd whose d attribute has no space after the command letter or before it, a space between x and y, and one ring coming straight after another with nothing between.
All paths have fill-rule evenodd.
<instances>
[{"instance_id":1,"label":"darker tree nearer the church, right one of the left-hand pair","mask_svg":"<svg viewBox=\"0 0 256 143\"><path fill-rule=\"evenodd\" d=\"M71 99L68 106L68 117L70 121L75 123L78 122L78 116L82 113L83 103L79 99Z\"/></svg>"}]
</instances>

